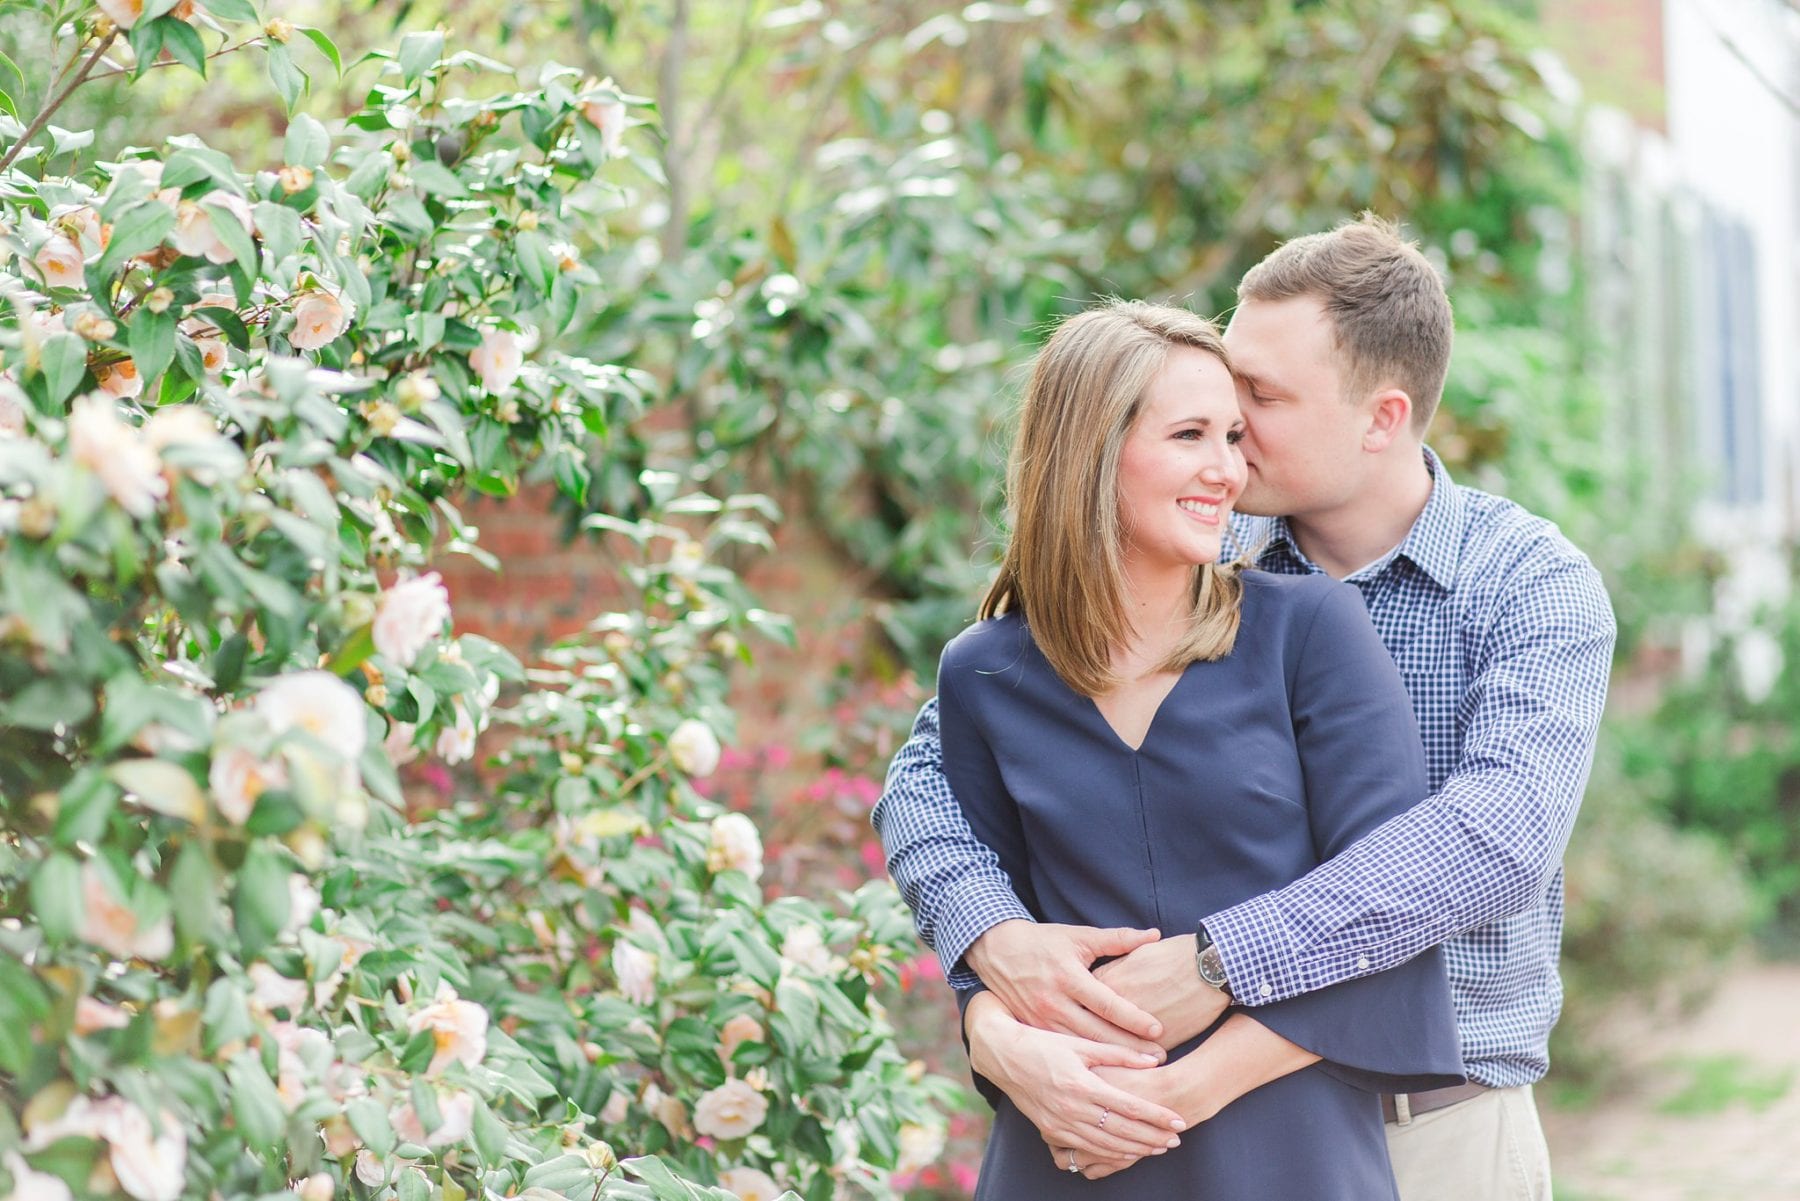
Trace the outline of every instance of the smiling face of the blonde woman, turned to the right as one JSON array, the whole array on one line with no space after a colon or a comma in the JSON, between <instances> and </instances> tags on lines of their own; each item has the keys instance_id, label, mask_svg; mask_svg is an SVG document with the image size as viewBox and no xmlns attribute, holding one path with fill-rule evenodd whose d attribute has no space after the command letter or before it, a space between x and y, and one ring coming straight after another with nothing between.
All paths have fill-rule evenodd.
<instances>
[{"instance_id":1,"label":"smiling face of the blonde woman, turned to the right","mask_svg":"<svg viewBox=\"0 0 1800 1201\"><path fill-rule=\"evenodd\" d=\"M1226 520L1244 492L1238 385L1217 357L1170 349L1120 454L1125 558L1139 567L1219 560Z\"/></svg>"}]
</instances>

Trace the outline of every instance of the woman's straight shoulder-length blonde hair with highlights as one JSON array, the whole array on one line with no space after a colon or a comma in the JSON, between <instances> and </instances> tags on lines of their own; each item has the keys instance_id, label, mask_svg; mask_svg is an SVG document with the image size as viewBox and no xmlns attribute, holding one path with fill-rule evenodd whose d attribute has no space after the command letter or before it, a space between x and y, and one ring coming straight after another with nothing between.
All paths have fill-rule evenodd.
<instances>
[{"instance_id":1,"label":"woman's straight shoulder-length blonde hair with highlights","mask_svg":"<svg viewBox=\"0 0 1800 1201\"><path fill-rule=\"evenodd\" d=\"M1129 641L1120 456L1170 348L1226 355L1219 326L1181 308L1109 301L1051 335L1031 366L1006 468L1012 540L981 618L1017 609L1069 688L1103 697ZM1193 573L1193 616L1161 664L1181 670L1231 654L1244 585L1238 564Z\"/></svg>"}]
</instances>

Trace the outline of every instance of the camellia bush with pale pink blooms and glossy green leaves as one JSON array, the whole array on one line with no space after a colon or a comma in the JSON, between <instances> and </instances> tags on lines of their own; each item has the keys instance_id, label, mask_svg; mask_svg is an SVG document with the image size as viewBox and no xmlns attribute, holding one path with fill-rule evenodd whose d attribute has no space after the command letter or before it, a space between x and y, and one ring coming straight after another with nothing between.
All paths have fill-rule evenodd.
<instances>
[{"instance_id":1,"label":"camellia bush with pale pink blooms and glossy green leaves","mask_svg":"<svg viewBox=\"0 0 1800 1201\"><path fill-rule=\"evenodd\" d=\"M346 68L248 0L27 7L67 68L0 104L0 1188L891 1196L950 1088L877 999L911 924L886 884L765 898L695 789L783 632L718 551L776 513L684 486L644 380L560 346L639 103L437 32ZM266 162L54 124L221 54L292 113ZM326 124L308 74L373 81ZM428 567L536 479L630 603L526 670Z\"/></svg>"}]
</instances>

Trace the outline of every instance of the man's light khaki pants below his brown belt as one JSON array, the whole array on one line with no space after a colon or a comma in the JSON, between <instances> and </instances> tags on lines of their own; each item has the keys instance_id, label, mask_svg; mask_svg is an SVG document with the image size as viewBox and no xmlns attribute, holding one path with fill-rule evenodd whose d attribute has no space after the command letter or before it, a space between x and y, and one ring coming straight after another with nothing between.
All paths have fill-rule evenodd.
<instances>
[{"instance_id":1,"label":"man's light khaki pants below his brown belt","mask_svg":"<svg viewBox=\"0 0 1800 1201\"><path fill-rule=\"evenodd\" d=\"M1388 1124L1400 1201L1550 1201L1550 1147L1530 1086Z\"/></svg>"}]
</instances>

